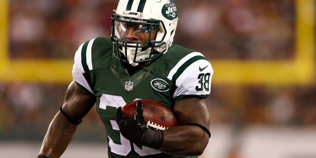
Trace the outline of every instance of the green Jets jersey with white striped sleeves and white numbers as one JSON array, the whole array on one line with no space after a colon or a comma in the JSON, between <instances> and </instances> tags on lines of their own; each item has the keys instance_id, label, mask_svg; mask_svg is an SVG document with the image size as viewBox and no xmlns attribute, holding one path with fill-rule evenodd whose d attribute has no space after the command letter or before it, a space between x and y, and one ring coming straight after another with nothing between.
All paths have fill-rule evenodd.
<instances>
[{"instance_id":1,"label":"green Jets jersey with white striped sleeves and white numbers","mask_svg":"<svg viewBox=\"0 0 316 158\"><path fill-rule=\"evenodd\" d=\"M179 158L148 147L141 150L125 139L115 121L116 109L136 99L157 100L173 109L181 100L206 98L213 69L201 53L173 44L164 55L129 75L114 56L111 39L96 38L79 46L72 74L83 92L96 98L109 158Z\"/></svg>"}]
</instances>

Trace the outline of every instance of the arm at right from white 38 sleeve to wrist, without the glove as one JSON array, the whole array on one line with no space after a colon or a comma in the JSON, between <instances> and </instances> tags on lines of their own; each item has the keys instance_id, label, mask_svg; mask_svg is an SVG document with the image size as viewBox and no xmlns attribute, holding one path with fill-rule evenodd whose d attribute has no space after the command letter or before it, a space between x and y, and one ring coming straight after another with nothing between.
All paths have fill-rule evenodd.
<instances>
[{"instance_id":1,"label":"arm at right from white 38 sleeve to wrist, without the glove","mask_svg":"<svg viewBox=\"0 0 316 158\"><path fill-rule=\"evenodd\" d=\"M201 155L210 137L210 116L204 98L210 94L214 71L209 61L199 52L193 52L188 56L191 58L183 58L186 62L179 62L181 66L175 67L183 67L183 63L192 63L186 69L182 69L181 75L176 76L175 73L181 72L181 69L170 71L168 75L169 79L175 79L177 86L173 94L173 112L179 126L163 130L163 141L159 150L175 156Z\"/></svg>"}]
</instances>

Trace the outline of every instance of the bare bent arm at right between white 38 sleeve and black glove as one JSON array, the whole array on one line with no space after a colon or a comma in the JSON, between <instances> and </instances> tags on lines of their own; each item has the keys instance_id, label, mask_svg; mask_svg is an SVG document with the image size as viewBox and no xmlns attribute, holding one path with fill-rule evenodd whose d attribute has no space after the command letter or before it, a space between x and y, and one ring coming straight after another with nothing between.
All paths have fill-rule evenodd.
<instances>
[{"instance_id":1,"label":"bare bent arm at right between white 38 sleeve and black glove","mask_svg":"<svg viewBox=\"0 0 316 158\"><path fill-rule=\"evenodd\" d=\"M175 156L201 155L209 140L210 116L205 99L191 98L174 105L179 126L163 130L159 150ZM203 127L206 129L203 129Z\"/></svg>"}]
</instances>

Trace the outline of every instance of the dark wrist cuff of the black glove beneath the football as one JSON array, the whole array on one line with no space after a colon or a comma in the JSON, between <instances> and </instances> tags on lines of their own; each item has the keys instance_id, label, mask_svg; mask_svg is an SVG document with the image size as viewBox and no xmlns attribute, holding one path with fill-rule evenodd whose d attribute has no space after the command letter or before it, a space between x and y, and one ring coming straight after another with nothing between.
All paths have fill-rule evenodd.
<instances>
[{"instance_id":1,"label":"dark wrist cuff of the black glove beneath the football","mask_svg":"<svg viewBox=\"0 0 316 158\"><path fill-rule=\"evenodd\" d=\"M142 145L153 148L153 149L158 149L160 148L161 144L163 141L163 132L162 130L148 130L144 133L142 137Z\"/></svg>"}]
</instances>

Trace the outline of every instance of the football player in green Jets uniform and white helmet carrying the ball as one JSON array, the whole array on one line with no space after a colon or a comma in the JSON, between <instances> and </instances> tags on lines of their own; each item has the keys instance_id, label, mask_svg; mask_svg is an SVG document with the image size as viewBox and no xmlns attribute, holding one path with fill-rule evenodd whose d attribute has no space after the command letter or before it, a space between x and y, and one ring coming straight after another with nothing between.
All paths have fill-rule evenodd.
<instances>
[{"instance_id":1,"label":"football player in green Jets uniform and white helmet carrying the ball","mask_svg":"<svg viewBox=\"0 0 316 158\"><path fill-rule=\"evenodd\" d=\"M212 66L201 53L172 44L178 21L173 0L119 0L114 11L111 39L79 46L73 81L38 158L59 158L95 103L109 158L197 158L211 135L205 98ZM121 107L136 99L165 104L179 126L154 130L124 118Z\"/></svg>"}]
</instances>

